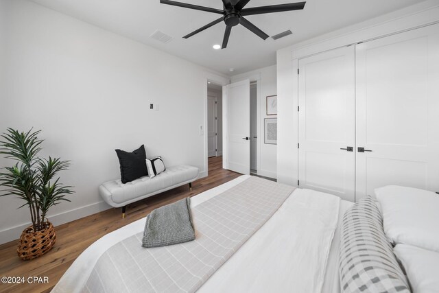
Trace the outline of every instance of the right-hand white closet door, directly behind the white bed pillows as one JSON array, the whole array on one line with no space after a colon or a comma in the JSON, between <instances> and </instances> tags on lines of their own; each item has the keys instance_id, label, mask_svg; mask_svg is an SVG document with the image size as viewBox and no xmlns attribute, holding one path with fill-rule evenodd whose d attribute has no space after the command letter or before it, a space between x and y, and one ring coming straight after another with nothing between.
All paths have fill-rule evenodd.
<instances>
[{"instance_id":1,"label":"right-hand white closet door, directly behind the white bed pillows","mask_svg":"<svg viewBox=\"0 0 439 293\"><path fill-rule=\"evenodd\" d=\"M439 191L439 25L357 45L356 98L356 200L384 185Z\"/></svg>"}]
</instances>

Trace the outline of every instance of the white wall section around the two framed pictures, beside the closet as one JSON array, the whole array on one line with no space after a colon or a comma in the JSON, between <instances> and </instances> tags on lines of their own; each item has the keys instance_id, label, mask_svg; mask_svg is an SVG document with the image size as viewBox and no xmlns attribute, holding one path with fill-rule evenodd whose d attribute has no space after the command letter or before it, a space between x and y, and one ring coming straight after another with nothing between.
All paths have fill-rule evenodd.
<instances>
[{"instance_id":1,"label":"white wall section around the two framed pictures, beside the closet","mask_svg":"<svg viewBox=\"0 0 439 293\"><path fill-rule=\"evenodd\" d=\"M267 176L270 178L277 178L276 176L276 147L277 145L265 144L263 142L263 127L264 119L275 116L267 116L266 112L266 97L268 95L276 95L276 65L270 67L264 67L247 73L234 75L231 78L231 82L238 82L239 80L245 80L249 78L250 81L257 80L259 86L259 131L258 131L258 174L261 176Z\"/></svg>"}]
</instances>

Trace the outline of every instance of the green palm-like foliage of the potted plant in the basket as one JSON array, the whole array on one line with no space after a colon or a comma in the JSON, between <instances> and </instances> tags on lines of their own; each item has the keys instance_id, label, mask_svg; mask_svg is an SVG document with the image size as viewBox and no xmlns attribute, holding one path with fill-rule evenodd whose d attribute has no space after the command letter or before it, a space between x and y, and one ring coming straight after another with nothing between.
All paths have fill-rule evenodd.
<instances>
[{"instance_id":1,"label":"green palm-like foliage of the potted plant in the basket","mask_svg":"<svg viewBox=\"0 0 439 293\"><path fill-rule=\"evenodd\" d=\"M16 161L12 167L1 169L0 186L7 188L0 190L0 196L16 196L25 200L21 207L31 207L36 231L41 227L36 222L45 219L49 208L61 200L70 201L64 197L74 193L73 187L62 185L59 183L60 178L56 178L58 172L69 168L70 162L51 156L49 159L38 157L40 145L43 143L43 140L38 139L40 132L41 130L32 129L19 132L8 128L7 132L0 136L0 154ZM40 215L40 219L37 215Z\"/></svg>"}]
</instances>

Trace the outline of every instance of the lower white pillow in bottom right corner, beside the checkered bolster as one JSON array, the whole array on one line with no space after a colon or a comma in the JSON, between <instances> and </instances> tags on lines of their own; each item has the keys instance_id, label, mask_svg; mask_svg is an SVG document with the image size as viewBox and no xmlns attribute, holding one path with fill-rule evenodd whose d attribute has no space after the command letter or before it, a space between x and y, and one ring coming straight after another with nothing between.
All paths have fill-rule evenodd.
<instances>
[{"instance_id":1,"label":"lower white pillow in bottom right corner, beside the checkered bolster","mask_svg":"<svg viewBox=\"0 0 439 293\"><path fill-rule=\"evenodd\" d=\"M394 248L414 293L439 292L439 253L398 244Z\"/></svg>"}]
</instances>

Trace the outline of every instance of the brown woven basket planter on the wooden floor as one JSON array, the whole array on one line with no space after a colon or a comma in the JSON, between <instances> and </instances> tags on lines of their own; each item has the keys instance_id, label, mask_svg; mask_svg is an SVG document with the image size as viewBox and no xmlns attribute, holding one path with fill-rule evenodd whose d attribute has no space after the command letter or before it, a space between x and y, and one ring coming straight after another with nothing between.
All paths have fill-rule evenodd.
<instances>
[{"instance_id":1,"label":"brown woven basket planter on the wooden floor","mask_svg":"<svg viewBox=\"0 0 439 293\"><path fill-rule=\"evenodd\" d=\"M44 226L43 230L37 232L34 232L34 228L29 226L21 233L19 248L16 250L21 259L36 259L54 246L56 242L54 225L47 221Z\"/></svg>"}]
</instances>

